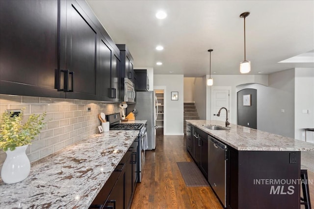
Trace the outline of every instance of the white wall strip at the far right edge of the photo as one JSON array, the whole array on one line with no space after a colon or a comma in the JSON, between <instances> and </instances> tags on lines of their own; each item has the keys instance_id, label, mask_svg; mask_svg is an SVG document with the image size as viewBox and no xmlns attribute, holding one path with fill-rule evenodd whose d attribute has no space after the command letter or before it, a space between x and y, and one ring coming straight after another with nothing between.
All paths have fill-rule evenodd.
<instances>
[{"instance_id":1,"label":"white wall strip at the far right edge of the photo","mask_svg":"<svg viewBox=\"0 0 314 209\"><path fill-rule=\"evenodd\" d=\"M305 140L304 128L314 128L314 69L295 69L294 138ZM308 110L309 113L302 113ZM314 143L314 132L307 131L307 141Z\"/></svg>"}]
</instances>

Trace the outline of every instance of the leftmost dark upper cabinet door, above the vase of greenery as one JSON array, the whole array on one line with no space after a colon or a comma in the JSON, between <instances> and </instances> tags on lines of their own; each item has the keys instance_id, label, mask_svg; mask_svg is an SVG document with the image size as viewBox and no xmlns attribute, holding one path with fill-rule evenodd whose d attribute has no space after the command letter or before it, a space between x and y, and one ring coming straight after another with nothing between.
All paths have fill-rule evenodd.
<instances>
[{"instance_id":1,"label":"leftmost dark upper cabinet door, above the vase of greenery","mask_svg":"<svg viewBox=\"0 0 314 209\"><path fill-rule=\"evenodd\" d=\"M58 1L1 0L0 93L65 97L58 69Z\"/></svg>"}]
</instances>

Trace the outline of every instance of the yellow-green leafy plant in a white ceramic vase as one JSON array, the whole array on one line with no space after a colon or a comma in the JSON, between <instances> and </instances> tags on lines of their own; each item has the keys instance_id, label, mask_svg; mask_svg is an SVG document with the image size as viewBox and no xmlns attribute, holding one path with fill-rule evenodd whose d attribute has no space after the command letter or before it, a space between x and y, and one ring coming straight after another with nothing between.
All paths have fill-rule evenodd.
<instances>
[{"instance_id":1,"label":"yellow-green leafy plant in a white ceramic vase","mask_svg":"<svg viewBox=\"0 0 314 209\"><path fill-rule=\"evenodd\" d=\"M43 113L30 115L23 124L24 110L21 110L19 115L4 112L1 118L0 148L6 153L1 178L7 184L14 184L27 178L30 162L26 156L26 148L47 123L44 121L46 113Z\"/></svg>"}]
</instances>

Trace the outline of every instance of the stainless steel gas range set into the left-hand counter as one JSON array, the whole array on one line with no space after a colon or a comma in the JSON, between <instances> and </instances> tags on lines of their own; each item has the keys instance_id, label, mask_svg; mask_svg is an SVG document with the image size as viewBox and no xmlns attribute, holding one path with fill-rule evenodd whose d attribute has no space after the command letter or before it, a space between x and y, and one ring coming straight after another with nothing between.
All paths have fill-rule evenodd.
<instances>
[{"instance_id":1,"label":"stainless steel gas range set into the left-hand counter","mask_svg":"<svg viewBox=\"0 0 314 209\"><path fill-rule=\"evenodd\" d=\"M146 125L143 123L121 123L120 113L112 114L107 116L107 121L110 124L110 130L124 130L124 131L139 131L137 140L137 170L138 170L138 182L142 182L142 174L145 165L145 150L147 149L147 132Z\"/></svg>"}]
</instances>

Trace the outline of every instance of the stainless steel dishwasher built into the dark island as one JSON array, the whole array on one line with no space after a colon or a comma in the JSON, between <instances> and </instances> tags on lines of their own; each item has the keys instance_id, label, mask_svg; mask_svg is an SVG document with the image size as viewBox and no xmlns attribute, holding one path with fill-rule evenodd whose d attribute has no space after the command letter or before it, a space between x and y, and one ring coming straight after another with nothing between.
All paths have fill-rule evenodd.
<instances>
[{"instance_id":1,"label":"stainless steel dishwasher built into the dark island","mask_svg":"<svg viewBox=\"0 0 314 209\"><path fill-rule=\"evenodd\" d=\"M226 161L227 146L208 136L208 181L223 206L226 208Z\"/></svg>"}]
</instances>

